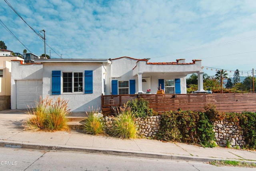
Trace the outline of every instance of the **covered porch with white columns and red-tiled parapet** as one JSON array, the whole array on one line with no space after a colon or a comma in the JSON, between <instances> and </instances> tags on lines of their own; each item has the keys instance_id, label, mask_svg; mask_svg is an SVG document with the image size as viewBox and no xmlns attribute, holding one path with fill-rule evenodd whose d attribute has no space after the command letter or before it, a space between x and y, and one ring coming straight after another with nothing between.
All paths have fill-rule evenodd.
<instances>
[{"instance_id":1,"label":"covered porch with white columns and red-tiled parapet","mask_svg":"<svg viewBox=\"0 0 256 171\"><path fill-rule=\"evenodd\" d=\"M138 61L133 69L133 76L138 83L136 94L144 94L147 90L155 94L160 84L165 93L186 94L186 76L193 73L198 74L198 90L195 92L205 93L201 60L193 60L192 63L185 63L184 59L177 60L176 63Z\"/></svg>"}]
</instances>

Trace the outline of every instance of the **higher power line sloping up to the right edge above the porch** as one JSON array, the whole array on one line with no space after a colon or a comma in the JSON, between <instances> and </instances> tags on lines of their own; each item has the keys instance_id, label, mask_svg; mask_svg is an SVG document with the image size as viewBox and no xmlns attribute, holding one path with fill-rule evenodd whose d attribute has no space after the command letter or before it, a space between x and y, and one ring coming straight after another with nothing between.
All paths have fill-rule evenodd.
<instances>
[{"instance_id":1,"label":"higher power line sloping up to the right edge above the porch","mask_svg":"<svg viewBox=\"0 0 256 171\"><path fill-rule=\"evenodd\" d=\"M193 52L193 51L197 51L197 50L203 50L203 49L207 49L207 48L215 48L215 47L218 47L218 46L224 46L224 45L227 45L227 44L235 44L235 43L238 43L238 42L243 42L243 41L247 41L247 40L251 40L251 39L255 39L255 38L256 38L256 36L250 36L250 37L237 39L237 40L232 40L232 41L229 41L229 42L224 42L224 43L220 43L220 44L216 44L216 45L210 45L210 46L205 46L205 47L202 47L202 48L196 48L196 49L192 49L192 50L176 52L176 53L168 54L168 55L155 56L155 57L151 57L151 58L162 58L162 57L167 57L167 56L174 56L174 55L184 54L184 53Z\"/></svg>"}]
</instances>

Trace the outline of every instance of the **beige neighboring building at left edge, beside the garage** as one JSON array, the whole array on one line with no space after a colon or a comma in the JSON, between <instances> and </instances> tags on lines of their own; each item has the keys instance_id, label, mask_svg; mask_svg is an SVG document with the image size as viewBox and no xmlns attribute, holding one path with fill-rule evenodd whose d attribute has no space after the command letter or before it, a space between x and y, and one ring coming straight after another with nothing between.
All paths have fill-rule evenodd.
<instances>
[{"instance_id":1,"label":"beige neighboring building at left edge, beside the garage","mask_svg":"<svg viewBox=\"0 0 256 171\"><path fill-rule=\"evenodd\" d=\"M18 56L0 56L0 111L10 109L11 60L22 61L23 59Z\"/></svg>"}]
</instances>

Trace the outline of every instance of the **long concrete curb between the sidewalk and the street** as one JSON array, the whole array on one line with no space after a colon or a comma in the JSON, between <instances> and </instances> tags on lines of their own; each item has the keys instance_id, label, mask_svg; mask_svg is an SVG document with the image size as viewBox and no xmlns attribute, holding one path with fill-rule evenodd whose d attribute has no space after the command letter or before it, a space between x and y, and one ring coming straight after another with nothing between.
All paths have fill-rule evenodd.
<instances>
[{"instance_id":1,"label":"long concrete curb between the sidewalk and the street","mask_svg":"<svg viewBox=\"0 0 256 171\"><path fill-rule=\"evenodd\" d=\"M100 149L93 147L74 147L68 145L42 145L34 143L23 143L23 142L11 142L11 141L0 141L0 147L2 148L12 148L12 149L32 149L41 151L59 151L59 152L78 152L78 153L90 153L99 155L116 155L123 157L137 157L137 158L147 158L147 159L164 159L172 161L191 161L191 162L210 162L210 161L220 161L220 160L234 160L236 159L223 159L223 158L211 158L211 157L195 157L195 156L185 156L185 155L171 155L163 153L147 153L138 151L128 151L128 150L113 150L113 149ZM243 161L246 163L255 163L256 161Z\"/></svg>"}]
</instances>

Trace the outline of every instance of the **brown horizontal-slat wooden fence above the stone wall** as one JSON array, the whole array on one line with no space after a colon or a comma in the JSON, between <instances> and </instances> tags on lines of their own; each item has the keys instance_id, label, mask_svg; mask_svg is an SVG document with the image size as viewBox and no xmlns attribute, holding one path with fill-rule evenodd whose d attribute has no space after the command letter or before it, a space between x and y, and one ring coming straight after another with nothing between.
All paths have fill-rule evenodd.
<instances>
[{"instance_id":1,"label":"brown horizontal-slat wooden fence above the stone wall","mask_svg":"<svg viewBox=\"0 0 256 171\"><path fill-rule=\"evenodd\" d=\"M256 94L225 93L225 94L141 94L141 95L102 95L102 112L113 114L113 109L128 100L144 98L154 111L182 110L204 111L204 105L212 103L216 109L226 112L256 111Z\"/></svg>"}]
</instances>

